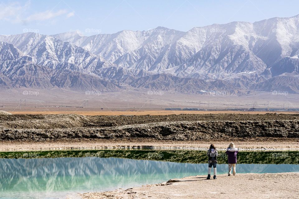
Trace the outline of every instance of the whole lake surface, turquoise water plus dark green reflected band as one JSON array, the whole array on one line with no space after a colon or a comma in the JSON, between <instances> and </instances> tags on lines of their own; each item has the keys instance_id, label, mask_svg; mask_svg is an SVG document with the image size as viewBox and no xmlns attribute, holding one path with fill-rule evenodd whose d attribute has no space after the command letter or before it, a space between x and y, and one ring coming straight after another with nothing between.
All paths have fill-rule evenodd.
<instances>
[{"instance_id":1,"label":"whole lake surface, turquoise water plus dark green reflected band","mask_svg":"<svg viewBox=\"0 0 299 199\"><path fill-rule=\"evenodd\" d=\"M240 152L237 173L299 172L298 152ZM227 173L219 152L217 173ZM100 192L206 175L206 151L69 150L0 152L0 198L79 198Z\"/></svg>"}]
</instances>

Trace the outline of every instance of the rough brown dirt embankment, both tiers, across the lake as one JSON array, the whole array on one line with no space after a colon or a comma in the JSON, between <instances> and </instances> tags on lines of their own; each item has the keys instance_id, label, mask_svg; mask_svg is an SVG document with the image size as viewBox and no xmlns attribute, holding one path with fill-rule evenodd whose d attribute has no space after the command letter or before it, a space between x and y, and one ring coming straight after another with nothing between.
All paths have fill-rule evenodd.
<instances>
[{"instance_id":1,"label":"rough brown dirt embankment, both tiers, across the lake","mask_svg":"<svg viewBox=\"0 0 299 199\"><path fill-rule=\"evenodd\" d=\"M287 114L0 115L0 140L149 138L199 141L255 137L299 138L299 116Z\"/></svg>"}]
</instances>

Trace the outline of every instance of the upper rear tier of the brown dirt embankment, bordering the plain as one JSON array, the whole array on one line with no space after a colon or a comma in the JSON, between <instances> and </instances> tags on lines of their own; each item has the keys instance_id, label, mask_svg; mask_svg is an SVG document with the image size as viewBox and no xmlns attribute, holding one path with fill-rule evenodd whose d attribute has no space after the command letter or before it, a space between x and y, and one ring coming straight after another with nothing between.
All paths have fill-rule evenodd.
<instances>
[{"instance_id":1,"label":"upper rear tier of the brown dirt embankment, bordering the plain","mask_svg":"<svg viewBox=\"0 0 299 199\"><path fill-rule=\"evenodd\" d=\"M179 115L98 115L84 116L75 114L59 115L7 115L0 114L0 126L23 129L52 129L80 127L113 127L133 124L159 122L195 121L272 121L299 120L294 114L179 114Z\"/></svg>"}]
</instances>

